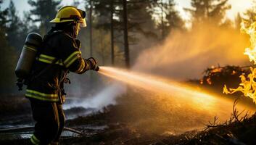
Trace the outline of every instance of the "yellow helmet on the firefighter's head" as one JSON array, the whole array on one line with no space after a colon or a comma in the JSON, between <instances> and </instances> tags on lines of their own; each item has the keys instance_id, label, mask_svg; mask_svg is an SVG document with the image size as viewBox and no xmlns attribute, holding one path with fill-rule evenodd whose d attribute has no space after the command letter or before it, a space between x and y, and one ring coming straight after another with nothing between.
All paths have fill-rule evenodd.
<instances>
[{"instance_id":1,"label":"yellow helmet on the firefighter's head","mask_svg":"<svg viewBox=\"0 0 256 145\"><path fill-rule=\"evenodd\" d=\"M59 9L56 17L50 23L79 22L81 27L86 27L86 12L73 6Z\"/></svg>"}]
</instances>

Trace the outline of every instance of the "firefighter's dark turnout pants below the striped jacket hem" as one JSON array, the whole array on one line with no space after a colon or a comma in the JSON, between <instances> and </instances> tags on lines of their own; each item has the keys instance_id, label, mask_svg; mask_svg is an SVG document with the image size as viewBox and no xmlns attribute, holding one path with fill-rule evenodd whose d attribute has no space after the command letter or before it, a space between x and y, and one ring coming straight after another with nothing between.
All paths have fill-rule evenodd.
<instances>
[{"instance_id":1,"label":"firefighter's dark turnout pants below the striped jacket hem","mask_svg":"<svg viewBox=\"0 0 256 145\"><path fill-rule=\"evenodd\" d=\"M65 125L62 104L58 102L30 99L35 131L30 141L33 144L58 144Z\"/></svg>"}]
</instances>

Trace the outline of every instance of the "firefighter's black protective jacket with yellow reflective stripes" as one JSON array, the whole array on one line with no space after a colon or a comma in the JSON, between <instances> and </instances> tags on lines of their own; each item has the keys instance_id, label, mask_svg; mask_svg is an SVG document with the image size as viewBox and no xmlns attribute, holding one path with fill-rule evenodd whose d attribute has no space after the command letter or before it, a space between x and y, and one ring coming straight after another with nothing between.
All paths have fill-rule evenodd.
<instances>
[{"instance_id":1,"label":"firefighter's black protective jacket with yellow reflective stripes","mask_svg":"<svg viewBox=\"0 0 256 145\"><path fill-rule=\"evenodd\" d=\"M80 41L62 30L51 30L33 64L25 96L42 101L63 101L63 83L68 71L83 73L91 69L88 59L81 57Z\"/></svg>"}]
</instances>

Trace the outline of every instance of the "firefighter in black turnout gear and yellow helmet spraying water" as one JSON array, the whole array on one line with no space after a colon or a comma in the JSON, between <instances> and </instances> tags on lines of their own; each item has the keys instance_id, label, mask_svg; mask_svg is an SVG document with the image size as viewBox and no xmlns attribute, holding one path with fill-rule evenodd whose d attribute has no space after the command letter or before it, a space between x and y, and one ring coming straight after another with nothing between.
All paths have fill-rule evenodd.
<instances>
[{"instance_id":1,"label":"firefighter in black turnout gear and yellow helmet spraying water","mask_svg":"<svg viewBox=\"0 0 256 145\"><path fill-rule=\"evenodd\" d=\"M86 13L76 7L59 9L55 26L44 36L42 48L32 67L25 96L30 99L35 131L32 144L59 144L65 125L62 103L65 101L63 83L69 82L67 72L82 74L99 70L94 58L83 59L77 36L86 27Z\"/></svg>"}]
</instances>

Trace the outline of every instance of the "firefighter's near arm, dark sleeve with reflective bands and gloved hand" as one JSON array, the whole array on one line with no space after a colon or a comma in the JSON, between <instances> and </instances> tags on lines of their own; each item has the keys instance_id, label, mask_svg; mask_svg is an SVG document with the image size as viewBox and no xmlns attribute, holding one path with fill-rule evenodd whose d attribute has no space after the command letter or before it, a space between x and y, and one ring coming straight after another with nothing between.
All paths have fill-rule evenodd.
<instances>
[{"instance_id":1,"label":"firefighter's near arm, dark sleeve with reflective bands and gloved hand","mask_svg":"<svg viewBox=\"0 0 256 145\"><path fill-rule=\"evenodd\" d=\"M67 35L62 37L61 46L57 51L63 65L68 70L81 74L86 72L86 70L96 70L96 68L99 68L94 58L83 59L79 49L80 46L74 38Z\"/></svg>"}]
</instances>

